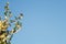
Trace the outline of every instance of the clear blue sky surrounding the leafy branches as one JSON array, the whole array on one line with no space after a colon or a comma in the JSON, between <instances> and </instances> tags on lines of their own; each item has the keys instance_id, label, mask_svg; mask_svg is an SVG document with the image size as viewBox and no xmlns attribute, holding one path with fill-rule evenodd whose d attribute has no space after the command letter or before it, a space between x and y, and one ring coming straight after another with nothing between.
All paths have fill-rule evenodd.
<instances>
[{"instance_id":1,"label":"clear blue sky surrounding the leafy branches","mask_svg":"<svg viewBox=\"0 0 66 44\"><path fill-rule=\"evenodd\" d=\"M12 44L66 44L66 0L0 0L0 14L7 1L14 15L24 14Z\"/></svg>"}]
</instances>

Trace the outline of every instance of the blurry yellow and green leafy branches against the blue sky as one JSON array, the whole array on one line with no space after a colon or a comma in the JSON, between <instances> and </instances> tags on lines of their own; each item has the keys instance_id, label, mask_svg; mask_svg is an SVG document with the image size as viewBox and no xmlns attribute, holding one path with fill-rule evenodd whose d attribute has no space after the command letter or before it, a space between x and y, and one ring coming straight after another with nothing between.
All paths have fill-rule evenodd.
<instances>
[{"instance_id":1,"label":"blurry yellow and green leafy branches against the blue sky","mask_svg":"<svg viewBox=\"0 0 66 44\"><path fill-rule=\"evenodd\" d=\"M22 28L21 19L23 14L20 13L18 16L12 18L12 13L9 9L9 2L4 7L4 19L2 20L0 16L0 44L11 44L11 37L13 33L18 32ZM11 31L8 29L12 28Z\"/></svg>"}]
</instances>

